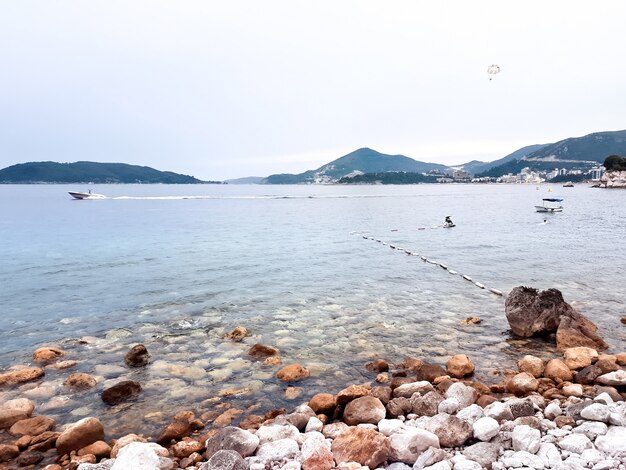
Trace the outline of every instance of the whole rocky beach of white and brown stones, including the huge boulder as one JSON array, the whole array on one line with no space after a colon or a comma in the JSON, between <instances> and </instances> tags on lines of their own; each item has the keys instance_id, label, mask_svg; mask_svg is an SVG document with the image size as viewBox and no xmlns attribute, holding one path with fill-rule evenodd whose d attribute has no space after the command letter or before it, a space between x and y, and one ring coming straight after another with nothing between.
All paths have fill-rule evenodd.
<instances>
[{"instance_id":1,"label":"whole rocky beach of white and brown stones, including the huge boulder","mask_svg":"<svg viewBox=\"0 0 626 470\"><path fill-rule=\"evenodd\" d=\"M201 408L158 415L157 432L148 431L154 416L133 413L149 399L141 371L159 360L144 345L107 365L136 372L136 380L105 381L76 371L70 352L43 346L31 364L0 374L0 468L626 468L626 352L606 351L597 327L554 289L514 289L506 315L517 336L554 339L552 357L524 354L515 368L493 364L482 374L465 354L445 363L375 357L362 364L369 380L316 393L307 390L313 367L283 364L274 346L246 346L250 334L239 326L223 344L245 346L294 406L267 409L242 400L244 388L224 389ZM478 318L465 322L480 327ZM50 396L59 382L63 395ZM97 414L72 420L80 412L51 406L81 393L126 416L132 432L108 429Z\"/></svg>"}]
</instances>

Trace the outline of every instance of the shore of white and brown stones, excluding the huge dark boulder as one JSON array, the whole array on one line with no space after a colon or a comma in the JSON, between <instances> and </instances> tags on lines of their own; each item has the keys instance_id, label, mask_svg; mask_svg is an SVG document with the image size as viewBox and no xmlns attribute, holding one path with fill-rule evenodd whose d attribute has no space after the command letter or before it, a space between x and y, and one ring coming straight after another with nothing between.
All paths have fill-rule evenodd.
<instances>
[{"instance_id":1,"label":"shore of white and brown stones, excluding the huge dark boulder","mask_svg":"<svg viewBox=\"0 0 626 470\"><path fill-rule=\"evenodd\" d=\"M251 352L273 357L274 348ZM62 351L42 348L40 360ZM144 364L147 351L127 360ZM44 359L42 359L44 358ZM230 426L235 407L196 416L181 410L159 436L107 440L97 417L55 429L27 398L0 405L0 468L323 470L624 469L626 353L566 349L544 361L525 356L494 384L471 379L466 355L446 367L416 358L365 364L372 383L318 393L295 409L246 414ZM0 375L3 387L37 380L37 368ZM306 380L299 364L281 368L286 383ZM72 377L89 386L88 377ZM116 402L132 400L134 385L118 387ZM109 393L110 394L110 393ZM107 395L106 390L102 398Z\"/></svg>"}]
</instances>

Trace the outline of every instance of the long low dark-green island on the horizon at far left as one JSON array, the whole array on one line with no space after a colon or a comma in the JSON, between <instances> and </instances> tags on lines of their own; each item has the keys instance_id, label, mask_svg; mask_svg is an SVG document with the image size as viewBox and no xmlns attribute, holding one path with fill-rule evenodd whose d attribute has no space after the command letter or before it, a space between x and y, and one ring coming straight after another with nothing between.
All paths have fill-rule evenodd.
<instances>
[{"instance_id":1,"label":"long low dark-green island on the horizon at far left","mask_svg":"<svg viewBox=\"0 0 626 470\"><path fill-rule=\"evenodd\" d=\"M147 166L97 162L31 162L0 170L0 183L140 183L140 184L221 184L193 176L159 171Z\"/></svg>"}]
</instances>

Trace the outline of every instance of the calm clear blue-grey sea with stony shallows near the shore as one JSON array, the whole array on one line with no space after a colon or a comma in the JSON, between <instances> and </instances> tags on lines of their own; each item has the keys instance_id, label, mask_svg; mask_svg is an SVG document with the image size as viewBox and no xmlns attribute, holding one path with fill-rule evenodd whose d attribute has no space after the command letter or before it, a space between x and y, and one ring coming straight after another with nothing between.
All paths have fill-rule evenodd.
<instances>
[{"instance_id":1,"label":"calm clear blue-grey sea with stony shallows near the shore","mask_svg":"<svg viewBox=\"0 0 626 470\"><path fill-rule=\"evenodd\" d=\"M87 189L106 198L68 194ZM547 197L564 210L536 212ZM29 397L59 423L98 416L118 436L158 434L182 409L241 410L235 423L293 408L372 382L375 358L465 353L493 383L525 354L555 354L510 334L504 299L520 285L559 289L626 351L625 207L626 191L584 184L0 185L0 371L44 345L78 361L0 401ZM249 336L226 339L237 326ZM131 369L139 343L151 362ZM280 382L255 343L311 376ZM96 387L65 386L73 372ZM138 397L100 400L127 379Z\"/></svg>"}]
</instances>

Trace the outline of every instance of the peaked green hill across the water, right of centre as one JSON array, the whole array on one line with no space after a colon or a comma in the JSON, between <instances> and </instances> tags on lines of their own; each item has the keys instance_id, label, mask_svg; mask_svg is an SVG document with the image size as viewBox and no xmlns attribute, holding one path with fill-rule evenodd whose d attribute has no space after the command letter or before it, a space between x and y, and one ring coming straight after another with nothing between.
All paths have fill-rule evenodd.
<instances>
[{"instance_id":1,"label":"peaked green hill across the water, right of centre","mask_svg":"<svg viewBox=\"0 0 626 470\"><path fill-rule=\"evenodd\" d=\"M333 160L317 170L309 170L297 175L270 175L262 182L265 184L333 183L350 174L383 173L404 171L425 173L430 170L448 170L446 165L425 163L404 155L386 155L370 148L361 148Z\"/></svg>"}]
</instances>

